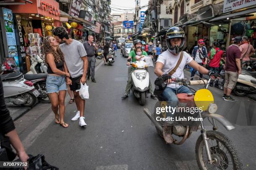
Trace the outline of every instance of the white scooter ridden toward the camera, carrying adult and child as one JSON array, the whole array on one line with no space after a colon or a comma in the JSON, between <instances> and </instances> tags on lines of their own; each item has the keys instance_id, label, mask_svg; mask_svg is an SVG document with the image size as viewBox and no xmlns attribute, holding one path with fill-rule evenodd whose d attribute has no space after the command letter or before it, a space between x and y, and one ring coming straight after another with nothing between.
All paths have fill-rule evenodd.
<instances>
[{"instance_id":1,"label":"white scooter ridden toward the camera, carrying adult and child","mask_svg":"<svg viewBox=\"0 0 256 170\"><path fill-rule=\"evenodd\" d=\"M132 66L136 68L131 74L132 87L131 90L135 97L139 100L140 105L145 105L146 95L149 92L149 74L146 70L147 65L144 61L136 61L132 63Z\"/></svg>"}]
</instances>

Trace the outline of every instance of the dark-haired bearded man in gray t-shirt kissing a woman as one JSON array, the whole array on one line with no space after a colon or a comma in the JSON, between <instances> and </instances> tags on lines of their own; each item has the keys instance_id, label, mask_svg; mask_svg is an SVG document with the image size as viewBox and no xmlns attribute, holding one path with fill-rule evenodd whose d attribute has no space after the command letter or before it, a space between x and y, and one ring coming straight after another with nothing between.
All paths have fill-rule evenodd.
<instances>
[{"instance_id":1,"label":"dark-haired bearded man in gray t-shirt kissing a woman","mask_svg":"<svg viewBox=\"0 0 256 170\"><path fill-rule=\"evenodd\" d=\"M87 53L81 42L69 37L64 27L56 27L52 30L54 37L60 43L61 51L64 54L64 71L69 72L71 77L66 77L66 82L70 90L74 93L74 99L77 105L77 114L71 119L80 120L80 126L86 126L84 122L84 105L85 100L79 95L80 83L86 82L86 73L88 67Z\"/></svg>"}]
</instances>

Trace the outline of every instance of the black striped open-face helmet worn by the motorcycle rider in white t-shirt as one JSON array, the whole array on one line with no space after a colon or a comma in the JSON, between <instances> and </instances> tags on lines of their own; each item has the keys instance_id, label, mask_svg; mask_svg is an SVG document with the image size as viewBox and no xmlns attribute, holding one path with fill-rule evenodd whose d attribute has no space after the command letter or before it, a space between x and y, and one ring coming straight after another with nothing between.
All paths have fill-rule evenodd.
<instances>
[{"instance_id":1,"label":"black striped open-face helmet worn by the motorcycle rider in white t-shirt","mask_svg":"<svg viewBox=\"0 0 256 170\"><path fill-rule=\"evenodd\" d=\"M180 38L182 40L179 47L178 47L178 45L175 45L174 47L172 47L170 40L172 40L174 38ZM185 42L186 42L185 32L182 28L172 27L166 32L166 44L167 44L168 50L170 52L179 54L179 52L181 52L184 49Z\"/></svg>"}]
</instances>

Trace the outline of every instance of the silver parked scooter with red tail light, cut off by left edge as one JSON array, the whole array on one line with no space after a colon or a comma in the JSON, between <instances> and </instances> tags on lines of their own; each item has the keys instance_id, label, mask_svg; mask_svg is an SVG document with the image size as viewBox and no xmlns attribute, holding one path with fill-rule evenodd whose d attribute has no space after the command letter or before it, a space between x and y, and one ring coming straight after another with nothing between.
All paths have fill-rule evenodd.
<instances>
[{"instance_id":1,"label":"silver parked scooter with red tail light, cut off by left edge","mask_svg":"<svg viewBox=\"0 0 256 170\"><path fill-rule=\"evenodd\" d=\"M3 91L6 103L30 107L36 103L36 97L40 95L33 83L24 79L21 72L12 72L1 75Z\"/></svg>"}]
</instances>

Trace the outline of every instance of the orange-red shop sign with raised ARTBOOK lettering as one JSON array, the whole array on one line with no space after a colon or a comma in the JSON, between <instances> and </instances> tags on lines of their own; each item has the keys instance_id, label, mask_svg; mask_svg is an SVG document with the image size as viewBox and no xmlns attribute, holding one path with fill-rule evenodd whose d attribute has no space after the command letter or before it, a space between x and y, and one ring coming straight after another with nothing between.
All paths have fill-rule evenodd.
<instances>
[{"instance_id":1,"label":"orange-red shop sign with raised ARTBOOK lettering","mask_svg":"<svg viewBox=\"0 0 256 170\"><path fill-rule=\"evenodd\" d=\"M54 0L37 0L38 13L58 19L60 17L59 3Z\"/></svg>"}]
</instances>

